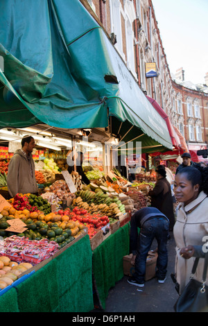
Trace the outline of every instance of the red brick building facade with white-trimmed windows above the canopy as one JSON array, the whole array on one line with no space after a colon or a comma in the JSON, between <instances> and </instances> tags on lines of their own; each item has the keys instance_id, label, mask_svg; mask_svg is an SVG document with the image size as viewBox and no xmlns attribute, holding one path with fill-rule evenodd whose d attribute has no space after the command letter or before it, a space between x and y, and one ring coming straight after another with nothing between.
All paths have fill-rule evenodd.
<instances>
[{"instance_id":1,"label":"red brick building facade with white-trimmed windows above the canopy","mask_svg":"<svg viewBox=\"0 0 208 326\"><path fill-rule=\"evenodd\" d=\"M184 70L171 76L151 0L80 0L114 44L141 90L154 98L187 141L189 149L208 142L208 83L193 85ZM157 76L146 78L146 63ZM207 79L206 79L207 78Z\"/></svg>"}]
</instances>

